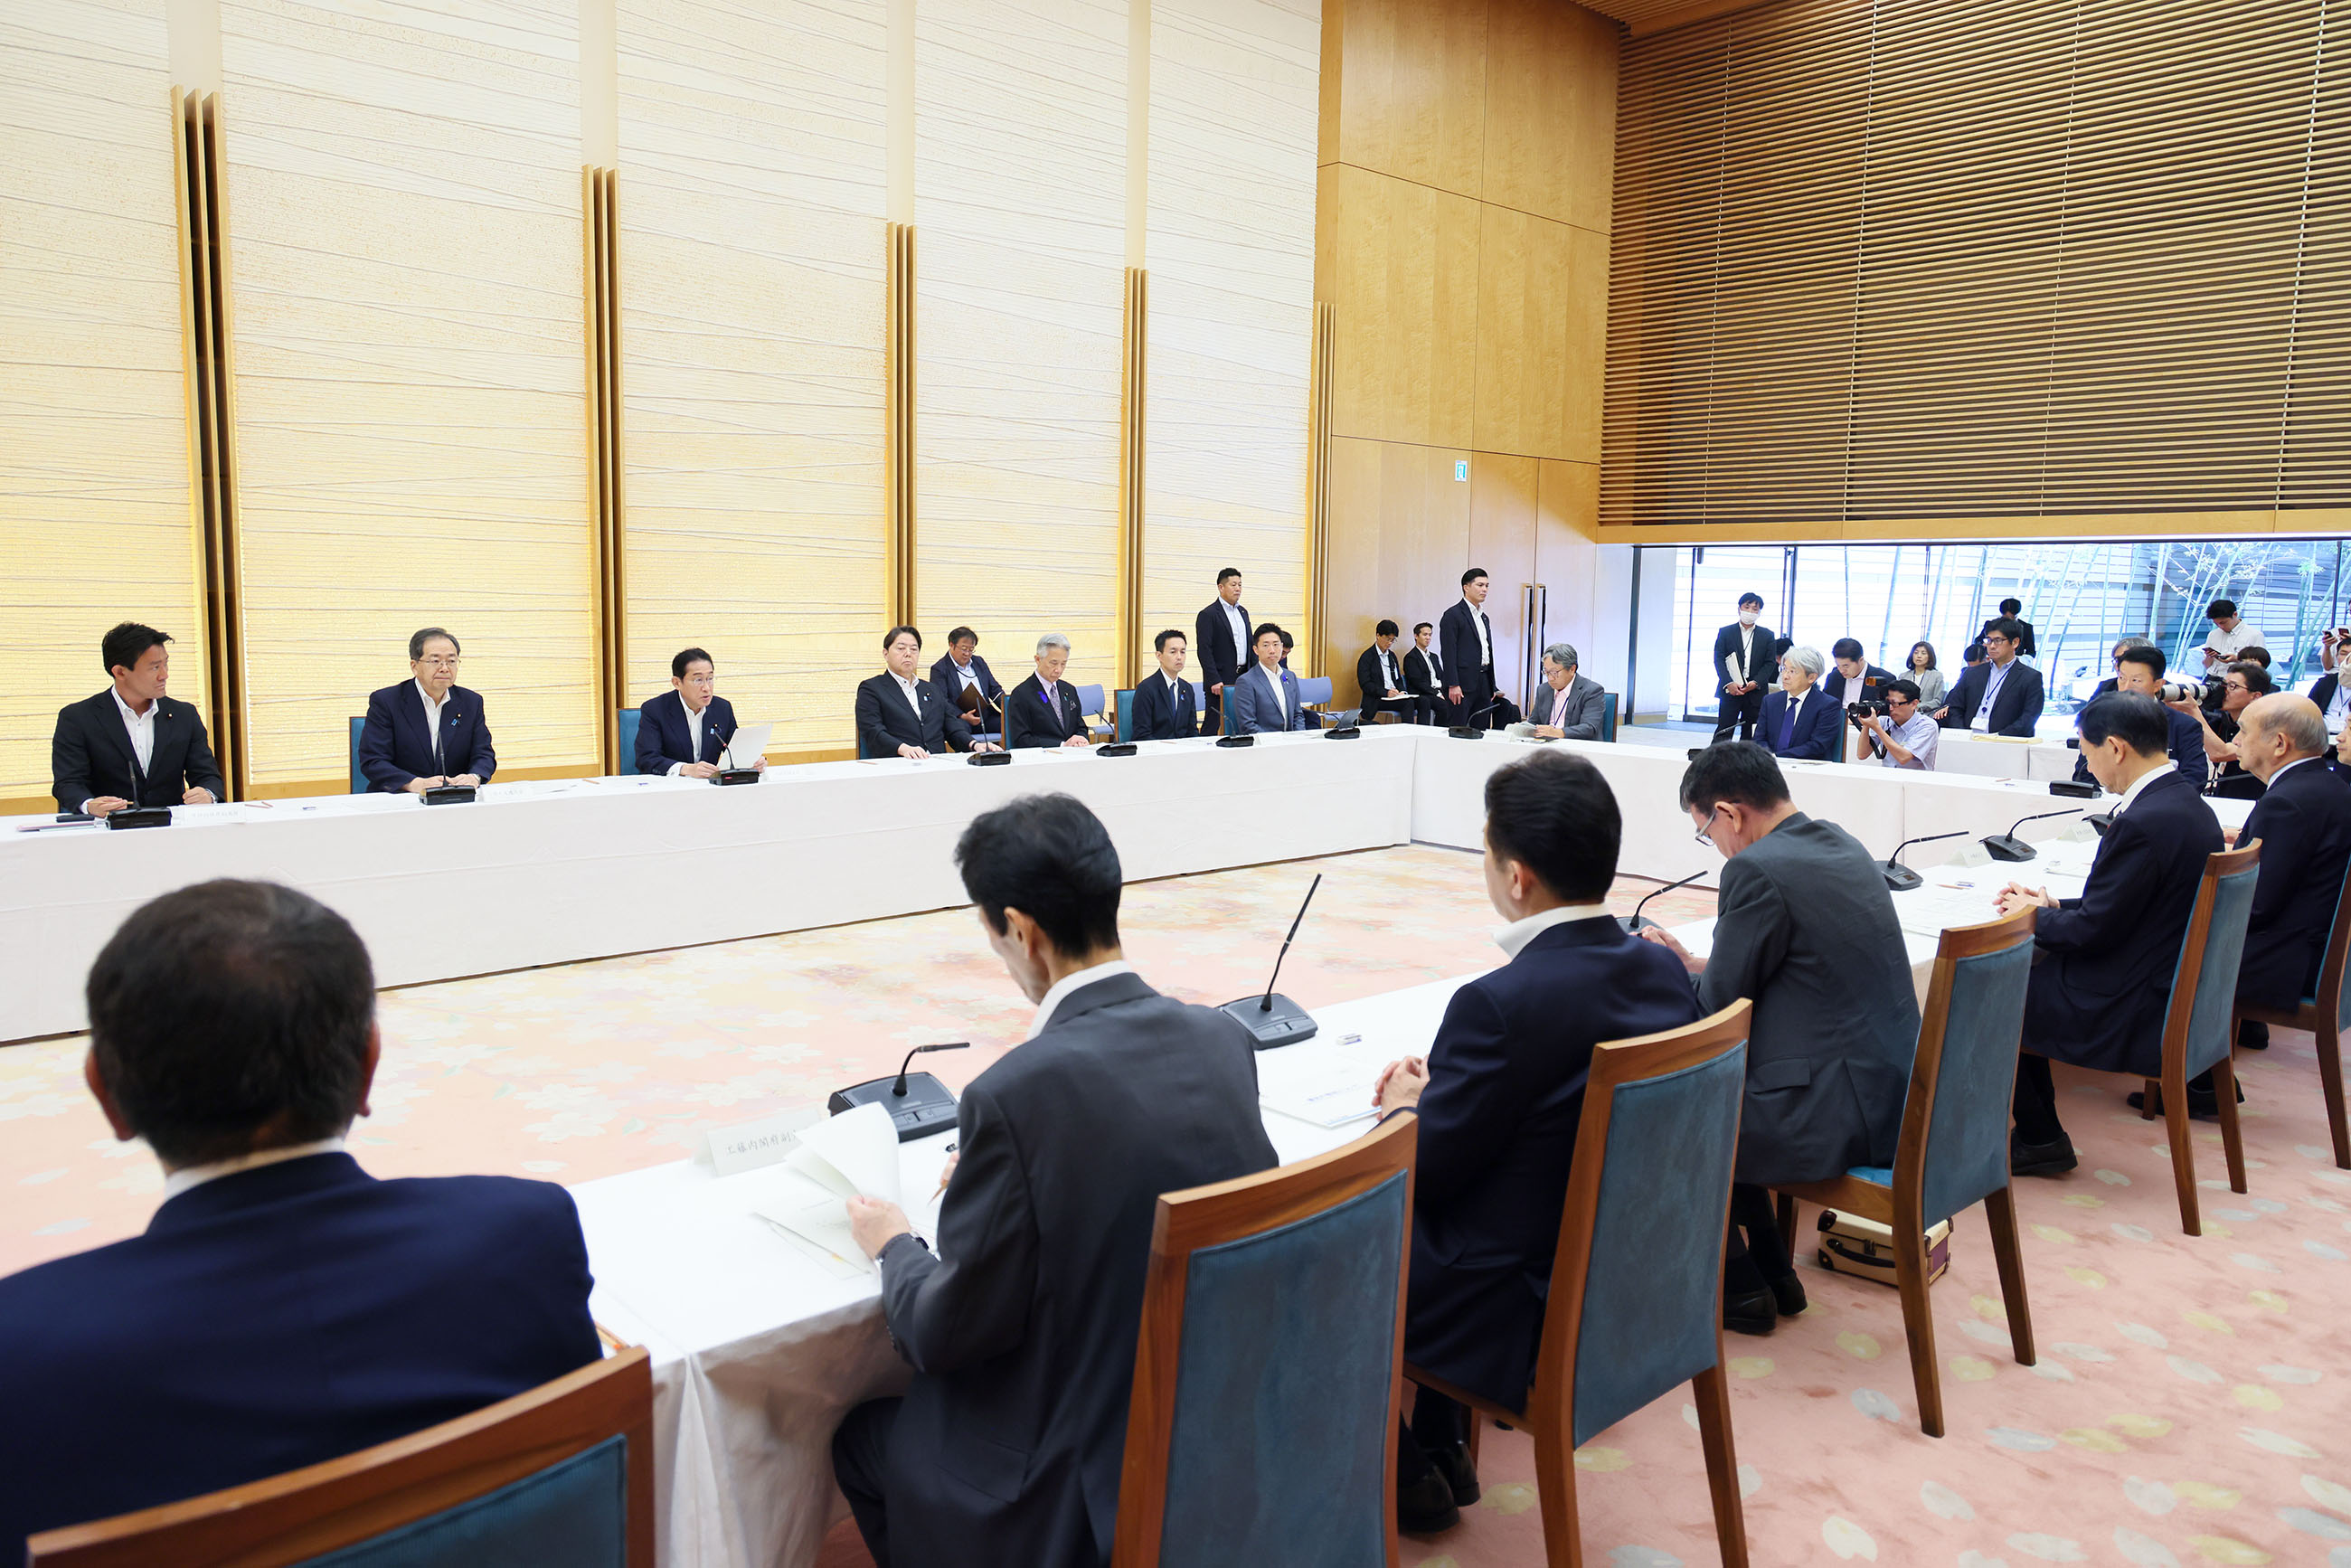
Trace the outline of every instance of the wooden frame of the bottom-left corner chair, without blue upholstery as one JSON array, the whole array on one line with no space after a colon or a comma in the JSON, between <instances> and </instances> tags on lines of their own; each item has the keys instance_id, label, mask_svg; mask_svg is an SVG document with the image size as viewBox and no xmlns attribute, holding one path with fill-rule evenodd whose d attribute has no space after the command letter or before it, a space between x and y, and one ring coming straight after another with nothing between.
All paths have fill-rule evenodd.
<instances>
[{"instance_id":1,"label":"wooden frame of the bottom-left corner chair, without blue upholstery","mask_svg":"<svg viewBox=\"0 0 2351 1568\"><path fill-rule=\"evenodd\" d=\"M628 1568L654 1568L654 1363L644 1347L339 1460L45 1530L26 1568L284 1568L430 1519L609 1436L628 1439Z\"/></svg>"}]
</instances>

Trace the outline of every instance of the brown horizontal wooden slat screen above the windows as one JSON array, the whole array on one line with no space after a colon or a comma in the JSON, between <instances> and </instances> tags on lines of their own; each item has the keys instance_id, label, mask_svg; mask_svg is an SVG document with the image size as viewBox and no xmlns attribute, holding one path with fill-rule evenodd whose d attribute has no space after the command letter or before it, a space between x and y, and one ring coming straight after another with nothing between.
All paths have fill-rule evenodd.
<instances>
[{"instance_id":1,"label":"brown horizontal wooden slat screen above the windows","mask_svg":"<svg viewBox=\"0 0 2351 1568\"><path fill-rule=\"evenodd\" d=\"M2342 505L2332 9L1789 0L1629 40L1601 522Z\"/></svg>"}]
</instances>

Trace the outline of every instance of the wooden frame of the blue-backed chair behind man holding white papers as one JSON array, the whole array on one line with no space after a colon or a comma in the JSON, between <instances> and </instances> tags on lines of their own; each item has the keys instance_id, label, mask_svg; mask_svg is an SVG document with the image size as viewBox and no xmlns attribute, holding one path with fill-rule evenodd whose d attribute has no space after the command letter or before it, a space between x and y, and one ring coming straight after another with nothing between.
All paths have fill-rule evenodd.
<instances>
[{"instance_id":1,"label":"wooden frame of the blue-backed chair behind man holding white papers","mask_svg":"<svg viewBox=\"0 0 2351 1568\"><path fill-rule=\"evenodd\" d=\"M1159 1199L1152 1265L1143 1284L1143 1335L1136 1340L1136 1392L1126 1413L1126 1460L1119 1474L1119 1523L1112 1568L1157 1568L1166 1530L1168 1441L1176 1429L1176 1371L1183 1352L1183 1302L1192 1253L1255 1237L1335 1208L1404 1173L1404 1237L1396 1255L1396 1328L1387 1373L1387 1474L1380 1483L1380 1530L1387 1568L1396 1568L1396 1420L1404 1410L1404 1286L1413 1262L1413 1152L1418 1117L1389 1117L1349 1145L1230 1182ZM1345 1302L1331 1302L1342 1307Z\"/></svg>"}]
</instances>

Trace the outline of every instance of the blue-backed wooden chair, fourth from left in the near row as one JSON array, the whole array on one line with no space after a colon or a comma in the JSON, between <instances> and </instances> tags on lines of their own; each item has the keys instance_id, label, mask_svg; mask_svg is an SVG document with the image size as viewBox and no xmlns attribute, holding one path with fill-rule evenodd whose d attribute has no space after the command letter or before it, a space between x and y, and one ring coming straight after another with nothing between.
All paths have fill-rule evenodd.
<instances>
[{"instance_id":1,"label":"blue-backed wooden chair, fourth from left in the near row","mask_svg":"<svg viewBox=\"0 0 2351 1568\"><path fill-rule=\"evenodd\" d=\"M1918 1018L1902 1140L1893 1166L1855 1166L1836 1180L1780 1190L1780 1234L1796 1234L1796 1199L1876 1220L1895 1234L1895 1288L1918 1389L1918 1429L1942 1436L1935 1373L1935 1309L1925 1232L1982 1204L2001 1269L2008 1340L2034 1363L2034 1316L2024 1300L2017 1204L2008 1187L2008 1100L2017 1084L2024 990L2034 973L2034 912L1954 926L1935 950L1935 978Z\"/></svg>"}]
</instances>

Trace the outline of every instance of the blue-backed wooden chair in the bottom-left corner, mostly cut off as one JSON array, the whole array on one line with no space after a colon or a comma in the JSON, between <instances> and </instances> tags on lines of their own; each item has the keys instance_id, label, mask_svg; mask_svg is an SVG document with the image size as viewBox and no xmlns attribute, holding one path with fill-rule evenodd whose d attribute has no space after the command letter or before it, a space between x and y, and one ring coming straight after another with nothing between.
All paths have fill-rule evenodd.
<instances>
[{"instance_id":1,"label":"blue-backed wooden chair in the bottom-left corner, mostly cut off","mask_svg":"<svg viewBox=\"0 0 2351 1568\"><path fill-rule=\"evenodd\" d=\"M28 1568L654 1566L642 1347L411 1436L160 1509L47 1530Z\"/></svg>"}]
</instances>

